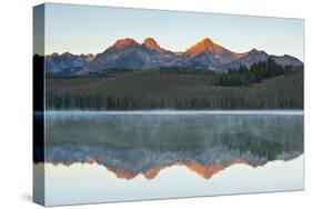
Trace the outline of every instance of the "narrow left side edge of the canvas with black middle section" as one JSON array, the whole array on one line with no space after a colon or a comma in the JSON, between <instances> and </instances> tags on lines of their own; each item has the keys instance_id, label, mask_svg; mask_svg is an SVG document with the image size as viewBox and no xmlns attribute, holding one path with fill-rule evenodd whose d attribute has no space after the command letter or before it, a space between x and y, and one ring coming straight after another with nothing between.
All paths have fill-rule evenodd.
<instances>
[{"instance_id":1,"label":"narrow left side edge of the canvas with black middle section","mask_svg":"<svg viewBox=\"0 0 312 209\"><path fill-rule=\"evenodd\" d=\"M32 197L46 206L44 183L44 14L46 4L32 8Z\"/></svg>"}]
</instances>

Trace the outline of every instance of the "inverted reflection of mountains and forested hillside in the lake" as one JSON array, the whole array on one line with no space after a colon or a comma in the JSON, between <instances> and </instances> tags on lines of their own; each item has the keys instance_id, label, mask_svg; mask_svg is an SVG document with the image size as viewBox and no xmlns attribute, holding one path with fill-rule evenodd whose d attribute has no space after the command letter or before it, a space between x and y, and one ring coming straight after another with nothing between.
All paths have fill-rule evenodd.
<instances>
[{"instance_id":1,"label":"inverted reflection of mountains and forested hillside in the lake","mask_svg":"<svg viewBox=\"0 0 312 209\"><path fill-rule=\"evenodd\" d=\"M97 162L119 178L183 165L203 178L303 152L303 117L273 115L47 115L46 161Z\"/></svg>"}]
</instances>

